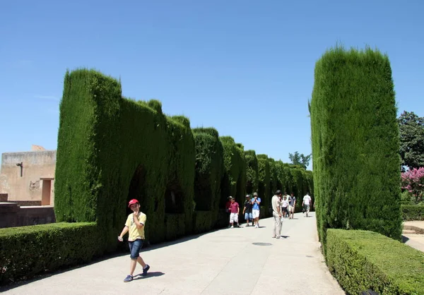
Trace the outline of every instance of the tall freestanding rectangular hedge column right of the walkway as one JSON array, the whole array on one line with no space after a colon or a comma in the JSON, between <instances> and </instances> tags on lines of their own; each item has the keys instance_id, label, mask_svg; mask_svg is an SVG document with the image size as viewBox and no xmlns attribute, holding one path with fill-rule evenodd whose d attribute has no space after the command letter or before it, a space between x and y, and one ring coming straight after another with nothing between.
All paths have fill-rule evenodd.
<instances>
[{"instance_id":1,"label":"tall freestanding rectangular hedge column right of the walkway","mask_svg":"<svg viewBox=\"0 0 424 295\"><path fill-rule=\"evenodd\" d=\"M389 58L327 51L315 66L312 159L319 236L327 228L401 238L399 127Z\"/></svg>"}]
</instances>

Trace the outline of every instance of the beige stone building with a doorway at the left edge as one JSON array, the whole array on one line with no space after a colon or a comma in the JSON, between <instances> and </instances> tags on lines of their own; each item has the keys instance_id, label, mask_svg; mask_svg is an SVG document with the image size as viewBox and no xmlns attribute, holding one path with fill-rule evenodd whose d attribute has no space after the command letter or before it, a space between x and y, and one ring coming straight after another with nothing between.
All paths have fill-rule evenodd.
<instances>
[{"instance_id":1,"label":"beige stone building with a doorway at the left edge","mask_svg":"<svg viewBox=\"0 0 424 295\"><path fill-rule=\"evenodd\" d=\"M0 195L20 204L54 205L55 167L56 150L33 145L29 152L5 152L1 155Z\"/></svg>"}]
</instances>

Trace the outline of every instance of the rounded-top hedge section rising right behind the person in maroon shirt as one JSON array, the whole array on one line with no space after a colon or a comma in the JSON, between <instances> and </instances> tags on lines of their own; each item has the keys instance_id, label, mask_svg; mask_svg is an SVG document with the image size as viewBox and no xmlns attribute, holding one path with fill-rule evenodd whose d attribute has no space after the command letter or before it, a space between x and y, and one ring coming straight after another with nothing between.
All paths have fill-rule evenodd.
<instances>
[{"instance_id":1,"label":"rounded-top hedge section rising right behind the person in maroon shirt","mask_svg":"<svg viewBox=\"0 0 424 295\"><path fill-rule=\"evenodd\" d=\"M219 207L225 207L230 195L241 205L245 200L246 187L245 152L240 148L242 145L236 144L230 136L221 136L220 141L223 145L224 174Z\"/></svg>"}]
</instances>

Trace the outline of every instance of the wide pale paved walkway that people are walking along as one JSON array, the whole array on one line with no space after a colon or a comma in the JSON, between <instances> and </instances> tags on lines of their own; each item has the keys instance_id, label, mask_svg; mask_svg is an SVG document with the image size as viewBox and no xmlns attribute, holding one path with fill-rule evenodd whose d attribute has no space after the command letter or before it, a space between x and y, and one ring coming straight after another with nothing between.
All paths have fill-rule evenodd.
<instances>
[{"instance_id":1,"label":"wide pale paved walkway that people are walking along","mask_svg":"<svg viewBox=\"0 0 424 295\"><path fill-rule=\"evenodd\" d=\"M123 282L129 255L121 255L4 294L344 294L319 251L312 215L285 220L283 240L271 238L268 218L259 229L243 225L145 249L141 255L151 265L150 275L129 283Z\"/></svg>"}]
</instances>

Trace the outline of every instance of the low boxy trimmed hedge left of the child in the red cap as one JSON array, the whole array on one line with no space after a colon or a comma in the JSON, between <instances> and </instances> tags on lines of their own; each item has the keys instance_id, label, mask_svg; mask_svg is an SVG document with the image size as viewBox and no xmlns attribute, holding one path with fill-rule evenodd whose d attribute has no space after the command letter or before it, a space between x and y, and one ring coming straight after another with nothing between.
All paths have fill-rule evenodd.
<instances>
[{"instance_id":1,"label":"low boxy trimmed hedge left of the child in the red cap","mask_svg":"<svg viewBox=\"0 0 424 295\"><path fill-rule=\"evenodd\" d=\"M95 223L55 223L0 229L0 285L30 279L101 255ZM115 240L114 243L117 243ZM83 249L83 251L81 251Z\"/></svg>"}]
</instances>

